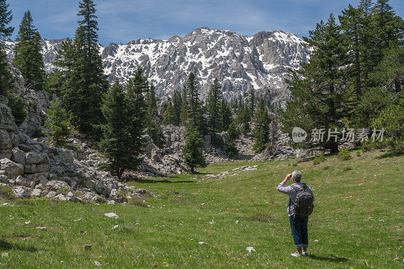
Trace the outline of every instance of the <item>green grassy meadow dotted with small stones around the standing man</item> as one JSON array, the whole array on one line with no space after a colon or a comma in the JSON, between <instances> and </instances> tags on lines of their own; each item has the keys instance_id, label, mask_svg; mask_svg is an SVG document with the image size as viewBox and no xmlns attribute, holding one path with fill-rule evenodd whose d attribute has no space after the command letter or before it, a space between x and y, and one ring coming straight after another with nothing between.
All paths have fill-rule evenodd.
<instances>
[{"instance_id":1,"label":"green grassy meadow dotted with small stones around the standing man","mask_svg":"<svg viewBox=\"0 0 404 269\"><path fill-rule=\"evenodd\" d=\"M94 268L94 261L101 268L402 268L404 156L381 154L349 161L327 156L321 166L291 166L296 160L210 165L200 175L131 182L153 193L133 205L36 200L2 206L0 253L9 256L0 256L0 268ZM259 167L207 177L243 165ZM310 257L289 255L295 250L287 197L276 190L296 169L316 195ZM104 216L110 212L120 218ZM115 225L123 229L112 230ZM248 246L256 252L249 254Z\"/></svg>"}]
</instances>

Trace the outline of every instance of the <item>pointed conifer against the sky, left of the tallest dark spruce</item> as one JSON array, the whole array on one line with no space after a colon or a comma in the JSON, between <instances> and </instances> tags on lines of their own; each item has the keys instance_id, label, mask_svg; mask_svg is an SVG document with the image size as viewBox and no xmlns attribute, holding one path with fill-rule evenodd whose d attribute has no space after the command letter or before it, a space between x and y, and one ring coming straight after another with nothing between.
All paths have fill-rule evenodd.
<instances>
[{"instance_id":1,"label":"pointed conifer against the sky, left of the tallest dark spruce","mask_svg":"<svg viewBox=\"0 0 404 269\"><path fill-rule=\"evenodd\" d=\"M14 48L14 62L25 79L25 86L37 91L43 89L45 72L42 61L41 37L33 26L33 19L29 11L25 12Z\"/></svg>"}]
</instances>

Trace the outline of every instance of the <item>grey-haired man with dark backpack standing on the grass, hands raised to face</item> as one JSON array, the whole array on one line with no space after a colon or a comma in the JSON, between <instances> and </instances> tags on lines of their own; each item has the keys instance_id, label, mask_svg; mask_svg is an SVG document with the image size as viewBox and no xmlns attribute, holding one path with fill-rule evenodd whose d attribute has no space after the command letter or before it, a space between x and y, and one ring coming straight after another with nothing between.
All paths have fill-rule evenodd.
<instances>
[{"instance_id":1,"label":"grey-haired man with dark backpack standing on the grass, hands raised to face","mask_svg":"<svg viewBox=\"0 0 404 269\"><path fill-rule=\"evenodd\" d=\"M285 183L290 178L292 178L293 184L285 187ZM309 215L313 213L314 207L314 194L312 189L306 185L306 183L301 183L300 180L301 172L294 171L288 174L277 187L280 192L289 195L287 214L289 215L293 241L297 248L297 251L290 255L294 257L307 255L307 247L309 246L307 222Z\"/></svg>"}]
</instances>

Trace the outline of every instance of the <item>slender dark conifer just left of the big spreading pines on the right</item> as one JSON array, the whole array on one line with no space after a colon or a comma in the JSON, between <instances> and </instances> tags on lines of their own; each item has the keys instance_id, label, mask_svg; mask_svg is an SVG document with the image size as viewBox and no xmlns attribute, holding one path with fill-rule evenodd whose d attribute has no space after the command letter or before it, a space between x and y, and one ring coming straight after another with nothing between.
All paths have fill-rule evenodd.
<instances>
[{"instance_id":1,"label":"slender dark conifer just left of the big spreading pines on the right","mask_svg":"<svg viewBox=\"0 0 404 269\"><path fill-rule=\"evenodd\" d=\"M260 99L256 114L256 130L254 132L254 138L256 143L252 146L252 149L256 152L261 152L265 149L265 145L269 143L269 124L270 119L268 110L263 98Z\"/></svg>"}]
</instances>

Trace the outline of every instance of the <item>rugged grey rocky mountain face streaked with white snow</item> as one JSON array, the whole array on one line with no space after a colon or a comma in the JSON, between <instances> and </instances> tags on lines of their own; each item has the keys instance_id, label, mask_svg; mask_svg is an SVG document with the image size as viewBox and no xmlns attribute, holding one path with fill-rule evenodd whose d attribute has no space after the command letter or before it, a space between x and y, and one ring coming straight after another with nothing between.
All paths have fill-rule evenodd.
<instances>
[{"instance_id":1,"label":"rugged grey rocky mountain face streaked with white snow","mask_svg":"<svg viewBox=\"0 0 404 269\"><path fill-rule=\"evenodd\" d=\"M46 71L54 69L52 61L63 40L42 40ZM7 42L13 57L13 42ZM288 98L284 78L289 68L298 69L307 61L307 50L296 35L283 31L259 32L252 37L230 31L198 28L185 37L168 40L138 39L127 44L100 45L105 74L110 82L124 82L137 66L145 70L165 99L181 90L188 74L199 81L199 92L206 98L212 81L222 83L226 99L246 94L254 86L258 95L283 103Z\"/></svg>"}]
</instances>

